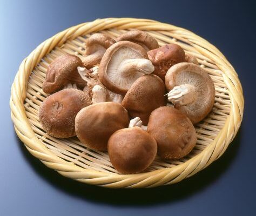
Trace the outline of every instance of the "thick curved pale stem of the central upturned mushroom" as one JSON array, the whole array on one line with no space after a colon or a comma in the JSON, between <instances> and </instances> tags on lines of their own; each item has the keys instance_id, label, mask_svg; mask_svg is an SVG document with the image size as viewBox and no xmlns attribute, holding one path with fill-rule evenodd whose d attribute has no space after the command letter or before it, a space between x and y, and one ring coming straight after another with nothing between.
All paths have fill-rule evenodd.
<instances>
[{"instance_id":1,"label":"thick curved pale stem of the central upturned mushroom","mask_svg":"<svg viewBox=\"0 0 256 216\"><path fill-rule=\"evenodd\" d=\"M122 77L129 77L134 72L141 72L145 75L150 74L154 71L154 66L149 59L134 58L125 59L119 65L118 71Z\"/></svg>"}]
</instances>

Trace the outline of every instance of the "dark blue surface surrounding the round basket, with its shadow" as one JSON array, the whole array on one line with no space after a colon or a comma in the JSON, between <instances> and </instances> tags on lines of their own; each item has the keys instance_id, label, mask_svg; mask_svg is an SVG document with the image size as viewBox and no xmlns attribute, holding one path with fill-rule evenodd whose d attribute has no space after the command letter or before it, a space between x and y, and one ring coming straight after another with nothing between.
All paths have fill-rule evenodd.
<instances>
[{"instance_id":1,"label":"dark blue surface surrounding the round basket, with its shadow","mask_svg":"<svg viewBox=\"0 0 256 216\"><path fill-rule=\"evenodd\" d=\"M255 12L252 1L0 0L0 215L255 215ZM189 29L234 66L244 89L244 120L223 157L206 170L176 185L109 190L60 176L16 137L9 97L23 58L55 33L104 17Z\"/></svg>"}]
</instances>

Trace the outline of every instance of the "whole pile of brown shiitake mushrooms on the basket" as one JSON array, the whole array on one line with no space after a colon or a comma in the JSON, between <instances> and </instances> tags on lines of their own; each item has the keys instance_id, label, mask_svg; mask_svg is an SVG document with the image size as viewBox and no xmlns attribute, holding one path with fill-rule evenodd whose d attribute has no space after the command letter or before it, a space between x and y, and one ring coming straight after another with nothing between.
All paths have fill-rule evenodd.
<instances>
[{"instance_id":1,"label":"whole pile of brown shiitake mushrooms on the basket","mask_svg":"<svg viewBox=\"0 0 256 216\"><path fill-rule=\"evenodd\" d=\"M144 171L156 154L186 156L197 142L193 124L214 104L211 77L176 44L159 47L144 31L116 40L95 33L86 55L63 55L49 65L39 109L46 133L77 136L93 150L108 151L120 173ZM174 107L168 105L171 102Z\"/></svg>"}]
</instances>

